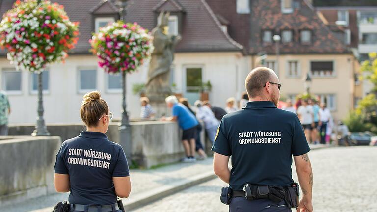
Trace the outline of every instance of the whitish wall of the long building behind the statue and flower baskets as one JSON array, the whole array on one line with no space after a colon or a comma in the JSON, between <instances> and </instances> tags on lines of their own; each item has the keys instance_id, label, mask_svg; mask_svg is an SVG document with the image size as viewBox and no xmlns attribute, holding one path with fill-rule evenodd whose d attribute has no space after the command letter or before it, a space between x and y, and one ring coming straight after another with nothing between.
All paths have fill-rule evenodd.
<instances>
[{"instance_id":1,"label":"whitish wall of the long building behind the statue and flower baskets","mask_svg":"<svg viewBox=\"0 0 377 212\"><path fill-rule=\"evenodd\" d=\"M174 80L177 90L183 90L183 71L185 67L199 65L203 68L203 81L210 80L212 91L210 100L213 105L225 107L225 100L229 97L240 98L244 91L244 79L250 71L250 62L240 53L176 53L174 60ZM48 67L49 91L44 94L45 121L47 123L80 123L80 106L85 93L78 89L79 67L93 67L97 70L97 89L101 92L114 119L121 117L121 91L107 90L107 74L98 68L97 58L92 55L71 55L64 64L52 64ZM5 58L0 59L0 82L3 82L3 70L14 68ZM138 118L140 114L139 95L134 95L132 86L145 83L147 79L148 63L137 72L127 75L127 110L131 118ZM3 87L0 84L0 87ZM31 93L31 75L22 72L22 92L8 93L12 113L9 116L11 124L35 123L37 116L37 98Z\"/></svg>"}]
</instances>

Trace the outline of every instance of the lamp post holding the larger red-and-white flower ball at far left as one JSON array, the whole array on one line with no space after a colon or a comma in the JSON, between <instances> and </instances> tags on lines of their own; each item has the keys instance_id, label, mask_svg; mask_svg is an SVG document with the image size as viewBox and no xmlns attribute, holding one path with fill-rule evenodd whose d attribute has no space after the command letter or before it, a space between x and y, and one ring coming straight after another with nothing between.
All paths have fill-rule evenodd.
<instances>
[{"instance_id":1,"label":"lamp post holding the larger red-and-white flower ball at far left","mask_svg":"<svg viewBox=\"0 0 377 212\"><path fill-rule=\"evenodd\" d=\"M41 3L41 0L38 0L38 4ZM38 73L38 117L37 124L35 125L35 130L31 133L32 136L50 136L50 133L47 131L45 125L45 120L43 118L43 113L45 112L43 108L43 85L42 85L42 72Z\"/></svg>"}]
</instances>

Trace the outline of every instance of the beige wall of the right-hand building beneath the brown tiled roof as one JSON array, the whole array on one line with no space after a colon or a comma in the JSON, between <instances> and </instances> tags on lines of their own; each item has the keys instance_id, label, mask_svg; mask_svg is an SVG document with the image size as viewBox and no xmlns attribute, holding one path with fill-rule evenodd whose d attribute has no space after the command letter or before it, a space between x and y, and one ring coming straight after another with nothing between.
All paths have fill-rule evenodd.
<instances>
[{"instance_id":1,"label":"beige wall of the right-hand building beneath the brown tiled roof","mask_svg":"<svg viewBox=\"0 0 377 212\"><path fill-rule=\"evenodd\" d=\"M255 60L257 57L254 57ZM266 61L275 60L275 55L269 55ZM288 65L290 60L298 61L299 75L296 78L288 77ZM333 61L335 76L333 77L314 77L310 85L310 92L316 95L335 95L335 110L332 114L337 119L346 117L350 109L353 108L354 99L354 63L353 55L289 55L279 56L279 79L282 84L281 96L289 97L289 95L302 94L305 92L304 79L310 70L311 61ZM257 66L257 62L254 62Z\"/></svg>"}]
</instances>

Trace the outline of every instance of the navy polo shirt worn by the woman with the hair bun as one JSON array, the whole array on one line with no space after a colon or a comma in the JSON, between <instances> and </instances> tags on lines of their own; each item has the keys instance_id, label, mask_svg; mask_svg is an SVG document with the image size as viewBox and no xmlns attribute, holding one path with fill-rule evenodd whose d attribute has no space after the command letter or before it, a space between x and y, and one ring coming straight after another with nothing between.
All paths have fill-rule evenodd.
<instances>
[{"instance_id":1,"label":"navy polo shirt worn by the woman with the hair bun","mask_svg":"<svg viewBox=\"0 0 377 212\"><path fill-rule=\"evenodd\" d=\"M69 175L69 202L82 205L116 203L112 177L130 175L122 147L103 133L89 131L62 143L54 169Z\"/></svg>"}]
</instances>

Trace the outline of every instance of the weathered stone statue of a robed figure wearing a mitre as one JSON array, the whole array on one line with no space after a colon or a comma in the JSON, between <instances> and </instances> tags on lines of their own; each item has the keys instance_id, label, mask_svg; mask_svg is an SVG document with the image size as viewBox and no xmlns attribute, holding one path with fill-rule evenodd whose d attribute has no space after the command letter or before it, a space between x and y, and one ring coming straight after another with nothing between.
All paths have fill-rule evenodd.
<instances>
[{"instance_id":1,"label":"weathered stone statue of a robed figure wearing a mitre","mask_svg":"<svg viewBox=\"0 0 377 212\"><path fill-rule=\"evenodd\" d=\"M157 27L152 30L154 50L145 85L145 93L151 101L164 101L172 93L169 86L170 66L174 59L174 47L181 37L167 34L168 22L169 13L162 11Z\"/></svg>"}]
</instances>

